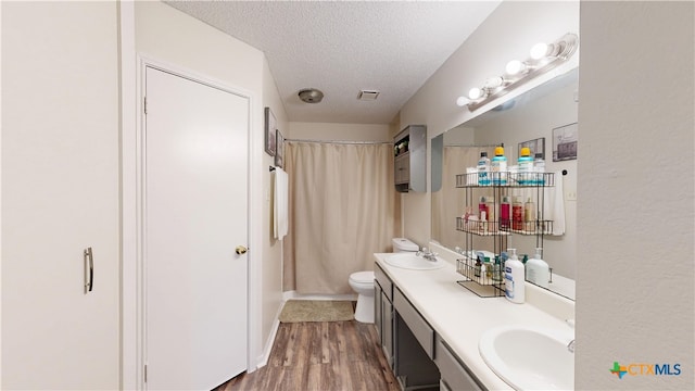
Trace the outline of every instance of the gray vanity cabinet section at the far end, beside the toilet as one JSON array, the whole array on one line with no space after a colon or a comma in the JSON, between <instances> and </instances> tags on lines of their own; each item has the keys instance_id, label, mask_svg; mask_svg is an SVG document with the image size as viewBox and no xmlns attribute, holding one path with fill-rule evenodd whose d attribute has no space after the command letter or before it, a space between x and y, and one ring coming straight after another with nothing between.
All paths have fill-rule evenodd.
<instances>
[{"instance_id":1,"label":"gray vanity cabinet section at the far end, beside the toilet","mask_svg":"<svg viewBox=\"0 0 695 391\"><path fill-rule=\"evenodd\" d=\"M381 349L393 369L393 283L386 273L375 264L375 326L379 333Z\"/></svg>"}]
</instances>

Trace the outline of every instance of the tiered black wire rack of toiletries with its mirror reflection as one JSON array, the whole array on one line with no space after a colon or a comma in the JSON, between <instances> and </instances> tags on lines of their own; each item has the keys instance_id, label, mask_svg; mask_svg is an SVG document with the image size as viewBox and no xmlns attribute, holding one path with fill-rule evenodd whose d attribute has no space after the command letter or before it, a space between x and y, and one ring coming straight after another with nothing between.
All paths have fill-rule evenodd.
<instances>
[{"instance_id":1,"label":"tiered black wire rack of toiletries with its mirror reflection","mask_svg":"<svg viewBox=\"0 0 695 391\"><path fill-rule=\"evenodd\" d=\"M459 285L483 298L505 295L508 241L515 235L532 236L535 247L543 248L543 237L553 231L553 220L544 218L544 190L554 185L554 173L506 167L456 175L456 187L465 192L465 212L456 217L456 230L466 232L456 262L456 272L465 277Z\"/></svg>"}]
</instances>

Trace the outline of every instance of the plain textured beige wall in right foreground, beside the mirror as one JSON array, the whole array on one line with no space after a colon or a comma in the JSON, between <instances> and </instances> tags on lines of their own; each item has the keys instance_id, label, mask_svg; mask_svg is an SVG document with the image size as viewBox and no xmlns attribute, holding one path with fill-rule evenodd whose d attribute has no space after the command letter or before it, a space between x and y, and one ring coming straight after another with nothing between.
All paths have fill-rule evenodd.
<instances>
[{"instance_id":1,"label":"plain textured beige wall in right foreground, beside the mirror","mask_svg":"<svg viewBox=\"0 0 695 391\"><path fill-rule=\"evenodd\" d=\"M695 3L582 2L578 389L695 389ZM614 362L681 364L618 380Z\"/></svg>"}]
</instances>

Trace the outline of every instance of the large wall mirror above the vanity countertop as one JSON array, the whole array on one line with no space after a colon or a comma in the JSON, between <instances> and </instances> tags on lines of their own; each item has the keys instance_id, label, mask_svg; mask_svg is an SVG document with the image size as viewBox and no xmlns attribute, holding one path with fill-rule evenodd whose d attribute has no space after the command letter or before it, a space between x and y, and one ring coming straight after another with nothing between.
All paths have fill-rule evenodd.
<instances>
[{"instance_id":1,"label":"large wall mirror above the vanity countertop","mask_svg":"<svg viewBox=\"0 0 695 391\"><path fill-rule=\"evenodd\" d=\"M465 191L456 188L456 175L475 167L481 151L494 155L494 146L503 143L508 165L519 157L519 144L544 143L545 172L555 174L555 187L546 189L545 211L553 215L552 235L543 236L543 260L552 268L548 289L574 300L577 265L577 149L578 75L574 68L551 79L496 108L478 115L432 139L432 241L455 250L464 248L465 234L456 230L456 217L466 210ZM567 141L574 150L567 151ZM540 147L536 147L540 149ZM535 151L538 152L538 151ZM527 199L525 191L511 194ZM475 205L468 205L477 207ZM548 205L552 211L548 211ZM481 247L492 250L481 238ZM507 247L532 257L538 245L534 236L511 235ZM485 249L482 249L485 250Z\"/></svg>"}]
</instances>

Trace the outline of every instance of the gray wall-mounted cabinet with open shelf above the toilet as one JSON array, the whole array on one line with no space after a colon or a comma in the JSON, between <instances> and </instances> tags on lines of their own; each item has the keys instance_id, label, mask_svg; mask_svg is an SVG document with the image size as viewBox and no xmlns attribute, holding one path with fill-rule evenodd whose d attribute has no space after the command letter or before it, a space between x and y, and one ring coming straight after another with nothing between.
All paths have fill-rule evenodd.
<instances>
[{"instance_id":1,"label":"gray wall-mounted cabinet with open shelf above the toilet","mask_svg":"<svg viewBox=\"0 0 695 391\"><path fill-rule=\"evenodd\" d=\"M427 191L427 127L405 127L394 137L393 144L393 178L396 191Z\"/></svg>"}]
</instances>

